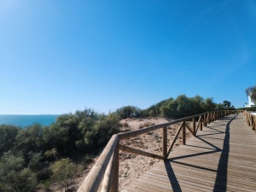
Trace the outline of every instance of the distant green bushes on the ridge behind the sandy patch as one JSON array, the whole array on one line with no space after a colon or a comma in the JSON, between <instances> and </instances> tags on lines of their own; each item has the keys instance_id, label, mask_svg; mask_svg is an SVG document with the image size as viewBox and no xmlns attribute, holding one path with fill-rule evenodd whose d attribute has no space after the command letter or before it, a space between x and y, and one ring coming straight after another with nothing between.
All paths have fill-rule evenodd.
<instances>
[{"instance_id":1,"label":"distant green bushes on the ridge behind the sandy patch","mask_svg":"<svg viewBox=\"0 0 256 192\"><path fill-rule=\"evenodd\" d=\"M144 110L133 106L125 106L119 108L116 113L121 119L150 117L179 119L197 113L224 109L235 109L235 107L231 106L231 102L229 101L216 103L213 102L213 98L204 99L201 96L188 97L186 95L180 95L176 99L170 97Z\"/></svg>"}]
</instances>

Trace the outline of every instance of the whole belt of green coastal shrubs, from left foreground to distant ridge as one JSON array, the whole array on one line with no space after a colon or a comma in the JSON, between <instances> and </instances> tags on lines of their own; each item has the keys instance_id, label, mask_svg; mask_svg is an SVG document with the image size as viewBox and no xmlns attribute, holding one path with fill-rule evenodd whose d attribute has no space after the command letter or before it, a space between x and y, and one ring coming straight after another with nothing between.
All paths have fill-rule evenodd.
<instances>
[{"instance_id":1,"label":"whole belt of green coastal shrubs, from left foreground to distant ridge","mask_svg":"<svg viewBox=\"0 0 256 192\"><path fill-rule=\"evenodd\" d=\"M235 108L228 101L181 95L144 110L125 106L105 115L84 109L63 114L44 127L0 125L0 191L50 191L53 183L71 191L74 178L92 161L91 155L99 154L119 132L121 119L178 119L221 109Z\"/></svg>"}]
</instances>

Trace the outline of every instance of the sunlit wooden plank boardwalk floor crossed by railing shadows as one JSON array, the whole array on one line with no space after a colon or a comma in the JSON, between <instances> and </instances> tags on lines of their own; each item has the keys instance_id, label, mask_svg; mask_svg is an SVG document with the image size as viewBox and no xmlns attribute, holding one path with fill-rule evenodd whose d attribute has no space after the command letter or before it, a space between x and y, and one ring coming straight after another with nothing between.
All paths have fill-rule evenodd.
<instances>
[{"instance_id":1,"label":"sunlit wooden plank boardwalk floor crossed by railing shadows","mask_svg":"<svg viewBox=\"0 0 256 192\"><path fill-rule=\"evenodd\" d=\"M122 191L256 191L256 132L242 114L214 121Z\"/></svg>"}]
</instances>

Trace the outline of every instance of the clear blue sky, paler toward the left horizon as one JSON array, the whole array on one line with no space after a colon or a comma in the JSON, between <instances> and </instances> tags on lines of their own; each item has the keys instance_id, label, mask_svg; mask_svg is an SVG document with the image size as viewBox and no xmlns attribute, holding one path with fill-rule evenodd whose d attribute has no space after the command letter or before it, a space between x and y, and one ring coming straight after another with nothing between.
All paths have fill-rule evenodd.
<instances>
[{"instance_id":1,"label":"clear blue sky, paler toward the left horizon","mask_svg":"<svg viewBox=\"0 0 256 192\"><path fill-rule=\"evenodd\" d=\"M0 0L0 113L247 102L256 1Z\"/></svg>"}]
</instances>

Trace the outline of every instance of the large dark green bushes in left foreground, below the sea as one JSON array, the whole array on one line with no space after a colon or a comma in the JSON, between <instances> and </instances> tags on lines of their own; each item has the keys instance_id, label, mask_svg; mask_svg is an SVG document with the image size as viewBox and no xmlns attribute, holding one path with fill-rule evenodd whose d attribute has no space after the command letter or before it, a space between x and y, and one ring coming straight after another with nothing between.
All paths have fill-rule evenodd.
<instances>
[{"instance_id":1,"label":"large dark green bushes in left foreground, below the sea","mask_svg":"<svg viewBox=\"0 0 256 192\"><path fill-rule=\"evenodd\" d=\"M45 127L0 125L0 191L37 191L54 182L68 189L90 163L88 154L99 153L119 126L116 113L91 109Z\"/></svg>"}]
</instances>

